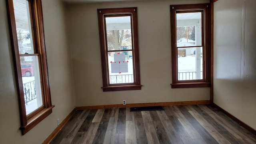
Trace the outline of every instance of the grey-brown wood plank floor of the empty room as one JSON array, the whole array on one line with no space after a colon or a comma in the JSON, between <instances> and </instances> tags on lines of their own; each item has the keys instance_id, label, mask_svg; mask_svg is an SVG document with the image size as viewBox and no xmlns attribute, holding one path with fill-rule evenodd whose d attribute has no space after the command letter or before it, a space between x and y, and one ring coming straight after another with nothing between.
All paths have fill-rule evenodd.
<instances>
[{"instance_id":1,"label":"grey-brown wood plank floor of the empty room","mask_svg":"<svg viewBox=\"0 0 256 144\"><path fill-rule=\"evenodd\" d=\"M256 144L256 135L210 105L77 111L50 144Z\"/></svg>"}]
</instances>

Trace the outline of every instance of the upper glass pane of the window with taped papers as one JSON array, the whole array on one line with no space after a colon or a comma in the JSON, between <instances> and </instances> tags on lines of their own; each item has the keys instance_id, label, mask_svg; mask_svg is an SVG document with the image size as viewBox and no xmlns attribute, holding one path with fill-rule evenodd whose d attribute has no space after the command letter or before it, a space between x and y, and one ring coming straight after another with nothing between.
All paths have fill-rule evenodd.
<instances>
[{"instance_id":1,"label":"upper glass pane of the window with taped papers","mask_svg":"<svg viewBox=\"0 0 256 144\"><path fill-rule=\"evenodd\" d=\"M132 50L131 17L106 17L108 50Z\"/></svg>"}]
</instances>

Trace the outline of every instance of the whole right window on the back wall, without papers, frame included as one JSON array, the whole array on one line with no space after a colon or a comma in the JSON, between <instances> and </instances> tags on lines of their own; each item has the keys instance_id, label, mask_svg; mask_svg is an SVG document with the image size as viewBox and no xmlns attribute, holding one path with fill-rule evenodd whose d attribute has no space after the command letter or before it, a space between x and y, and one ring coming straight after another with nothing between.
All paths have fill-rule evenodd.
<instances>
[{"instance_id":1,"label":"whole right window on the back wall, without papers, frame included","mask_svg":"<svg viewBox=\"0 0 256 144\"><path fill-rule=\"evenodd\" d=\"M172 88L210 86L209 4L171 5Z\"/></svg>"}]
</instances>

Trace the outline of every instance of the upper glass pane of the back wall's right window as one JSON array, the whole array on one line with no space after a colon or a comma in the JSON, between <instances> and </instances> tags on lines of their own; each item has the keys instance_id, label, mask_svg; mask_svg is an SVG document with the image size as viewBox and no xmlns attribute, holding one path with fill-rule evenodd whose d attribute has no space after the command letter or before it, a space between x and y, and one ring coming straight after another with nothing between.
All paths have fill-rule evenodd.
<instances>
[{"instance_id":1,"label":"upper glass pane of the back wall's right window","mask_svg":"<svg viewBox=\"0 0 256 144\"><path fill-rule=\"evenodd\" d=\"M176 14L177 47L202 46L202 13Z\"/></svg>"}]
</instances>

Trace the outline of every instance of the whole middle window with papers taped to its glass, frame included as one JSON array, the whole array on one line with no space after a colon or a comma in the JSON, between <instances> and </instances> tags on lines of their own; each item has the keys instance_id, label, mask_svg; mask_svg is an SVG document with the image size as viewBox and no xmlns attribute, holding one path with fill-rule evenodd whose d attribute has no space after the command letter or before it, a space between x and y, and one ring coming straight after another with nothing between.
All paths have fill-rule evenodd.
<instances>
[{"instance_id":1,"label":"whole middle window with papers taped to its glass, frame included","mask_svg":"<svg viewBox=\"0 0 256 144\"><path fill-rule=\"evenodd\" d=\"M137 8L98 9L103 91L140 90Z\"/></svg>"}]
</instances>

